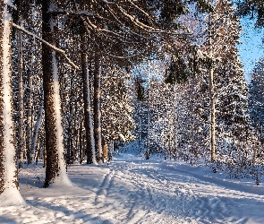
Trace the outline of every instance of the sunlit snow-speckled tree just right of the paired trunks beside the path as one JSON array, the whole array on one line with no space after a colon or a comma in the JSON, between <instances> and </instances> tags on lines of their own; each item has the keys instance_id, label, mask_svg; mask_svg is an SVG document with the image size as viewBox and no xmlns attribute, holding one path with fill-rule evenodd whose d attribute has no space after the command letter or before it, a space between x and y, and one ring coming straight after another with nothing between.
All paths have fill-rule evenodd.
<instances>
[{"instance_id":1,"label":"sunlit snow-speckled tree just right of the paired trunks beside the path","mask_svg":"<svg viewBox=\"0 0 264 224\"><path fill-rule=\"evenodd\" d=\"M110 66L102 78L102 134L108 145L113 142L132 142L132 96L130 74ZM112 143L111 143L112 142Z\"/></svg>"}]
</instances>

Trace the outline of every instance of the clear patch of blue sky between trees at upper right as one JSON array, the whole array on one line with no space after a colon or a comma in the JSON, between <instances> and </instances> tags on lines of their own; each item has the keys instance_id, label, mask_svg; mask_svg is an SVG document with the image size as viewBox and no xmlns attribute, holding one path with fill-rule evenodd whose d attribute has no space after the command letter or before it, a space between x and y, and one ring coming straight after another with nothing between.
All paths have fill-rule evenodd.
<instances>
[{"instance_id":1,"label":"clear patch of blue sky between trees at upper right","mask_svg":"<svg viewBox=\"0 0 264 224\"><path fill-rule=\"evenodd\" d=\"M245 70L245 78L250 82L250 73L255 63L264 56L264 44L262 38L264 36L264 29L254 29L254 21L244 18L242 21L243 32L241 41L243 44L239 45L240 59L243 61L243 69Z\"/></svg>"}]
</instances>

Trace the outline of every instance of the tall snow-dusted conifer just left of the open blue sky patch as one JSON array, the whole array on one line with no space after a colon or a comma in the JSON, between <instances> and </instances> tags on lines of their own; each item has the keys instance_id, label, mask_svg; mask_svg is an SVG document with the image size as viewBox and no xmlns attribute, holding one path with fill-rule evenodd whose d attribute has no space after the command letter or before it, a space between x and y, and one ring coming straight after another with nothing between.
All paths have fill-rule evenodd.
<instances>
[{"instance_id":1,"label":"tall snow-dusted conifer just left of the open blue sky patch","mask_svg":"<svg viewBox=\"0 0 264 224\"><path fill-rule=\"evenodd\" d=\"M234 15L234 7L230 1L218 1L216 10L219 14L217 18L220 17L217 20L218 24L216 23L217 41L220 42L216 57L221 58L215 70L217 75L218 154L222 157L228 155L229 159L232 159L230 154L236 151L236 162L243 163L239 155L245 156L245 151L248 150L251 127L248 87L237 49L242 28L239 25L239 19ZM225 150L220 145L225 145Z\"/></svg>"}]
</instances>

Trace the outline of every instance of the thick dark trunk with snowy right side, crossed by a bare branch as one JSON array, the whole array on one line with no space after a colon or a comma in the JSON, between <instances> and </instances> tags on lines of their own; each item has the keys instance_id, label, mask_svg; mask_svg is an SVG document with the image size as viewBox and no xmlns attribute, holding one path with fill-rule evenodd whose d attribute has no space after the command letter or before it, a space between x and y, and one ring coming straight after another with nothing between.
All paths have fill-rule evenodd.
<instances>
[{"instance_id":1,"label":"thick dark trunk with snowy right side, crossed by a bare branch","mask_svg":"<svg viewBox=\"0 0 264 224\"><path fill-rule=\"evenodd\" d=\"M53 33L55 22L49 11L52 10L54 5L55 2L53 0L42 2L42 36L43 39L51 44L55 43ZM61 124L61 102L55 51L44 44L42 45L42 65L47 152L44 186L47 187L57 181L64 185L70 185L64 161L64 134Z\"/></svg>"}]
</instances>

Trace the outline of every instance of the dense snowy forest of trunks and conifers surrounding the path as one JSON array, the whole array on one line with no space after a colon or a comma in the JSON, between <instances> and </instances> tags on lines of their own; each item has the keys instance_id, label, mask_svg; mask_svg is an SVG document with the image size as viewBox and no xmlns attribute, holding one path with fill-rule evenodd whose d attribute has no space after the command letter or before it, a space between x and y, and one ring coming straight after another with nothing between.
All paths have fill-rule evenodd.
<instances>
[{"instance_id":1,"label":"dense snowy forest of trunks and conifers surrounding the path","mask_svg":"<svg viewBox=\"0 0 264 224\"><path fill-rule=\"evenodd\" d=\"M0 196L20 201L39 160L45 187L70 185L68 164L128 142L258 185L264 58L248 84L245 15L263 27L262 1L0 0Z\"/></svg>"}]
</instances>

